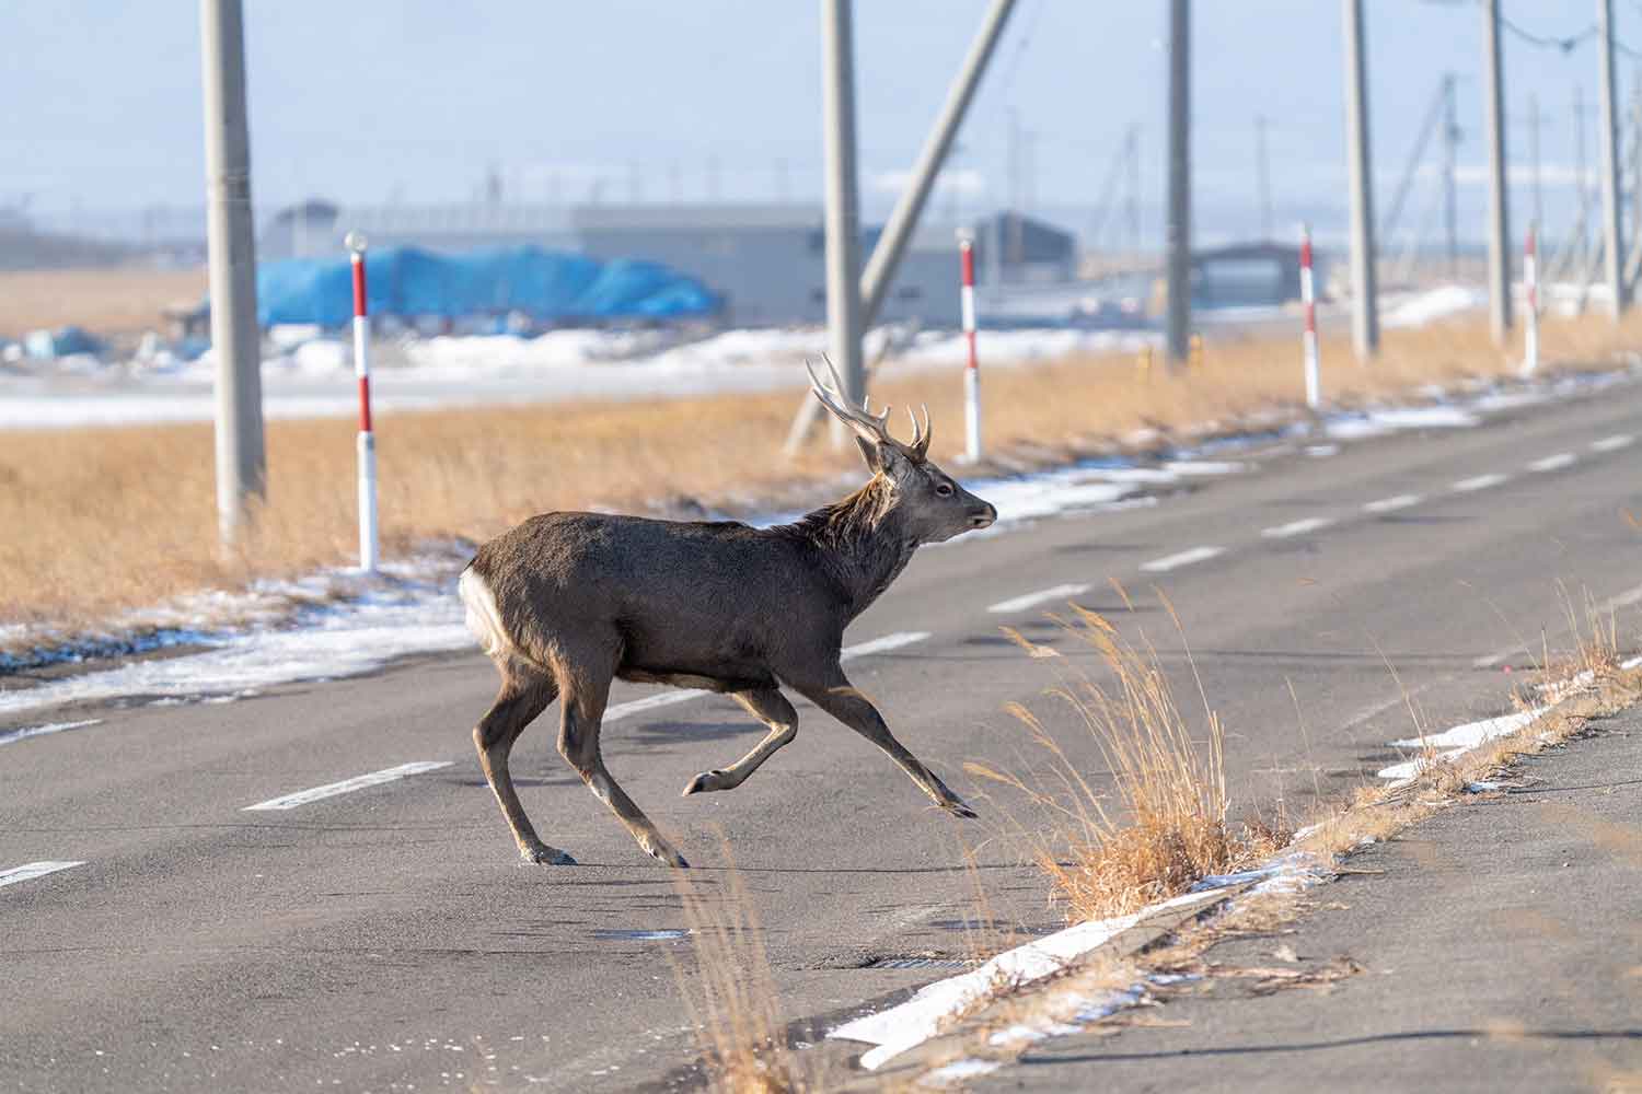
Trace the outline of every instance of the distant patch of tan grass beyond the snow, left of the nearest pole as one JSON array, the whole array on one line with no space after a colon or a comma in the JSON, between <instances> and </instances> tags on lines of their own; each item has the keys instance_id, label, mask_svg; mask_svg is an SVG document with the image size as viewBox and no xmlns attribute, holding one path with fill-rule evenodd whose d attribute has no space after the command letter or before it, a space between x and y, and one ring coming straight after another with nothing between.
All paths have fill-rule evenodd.
<instances>
[{"instance_id":1,"label":"distant patch of tan grass beyond the snow, left of the nearest pole","mask_svg":"<svg viewBox=\"0 0 1642 1094\"><path fill-rule=\"evenodd\" d=\"M84 326L133 335L161 326L172 303L205 295L204 269L54 269L0 272L0 333Z\"/></svg>"}]
</instances>

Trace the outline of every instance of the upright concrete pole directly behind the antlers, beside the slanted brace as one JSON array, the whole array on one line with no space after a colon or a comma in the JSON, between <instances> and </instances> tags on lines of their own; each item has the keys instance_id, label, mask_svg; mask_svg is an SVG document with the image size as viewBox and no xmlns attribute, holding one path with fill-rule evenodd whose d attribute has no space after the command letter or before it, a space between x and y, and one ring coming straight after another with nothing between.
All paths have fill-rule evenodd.
<instances>
[{"instance_id":1,"label":"upright concrete pole directly behind the antlers, beside the slanted brace","mask_svg":"<svg viewBox=\"0 0 1642 1094\"><path fill-rule=\"evenodd\" d=\"M855 46L852 0L821 0L821 128L826 149L826 341L860 405L860 194L855 187Z\"/></svg>"}]
</instances>

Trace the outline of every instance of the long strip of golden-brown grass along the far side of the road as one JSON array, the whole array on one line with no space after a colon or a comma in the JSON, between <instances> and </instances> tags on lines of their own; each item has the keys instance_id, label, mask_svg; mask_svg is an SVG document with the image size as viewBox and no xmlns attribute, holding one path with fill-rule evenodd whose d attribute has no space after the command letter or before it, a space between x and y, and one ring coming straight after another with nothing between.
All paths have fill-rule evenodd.
<instances>
[{"instance_id":1,"label":"long strip of golden-brown grass along the far side of the road","mask_svg":"<svg viewBox=\"0 0 1642 1094\"><path fill-rule=\"evenodd\" d=\"M1547 323L1543 336L1547 359L1580 366L1608 366L1639 341L1642 318ZM1475 321L1387 331L1368 367L1330 338L1323 392L1360 402L1512 367ZM1146 379L1130 356L1097 356L993 369L984 387L988 451L1036 444L1049 449L1044 459L1097 451L1141 426L1304 413L1297 338L1212 343L1204 367L1184 376L1159 364ZM892 367L874 394L929 403L936 459L962 448L956 372L897 377ZM553 508L678 512L680 499L695 499L745 510L859 474L854 451L816 444L795 463L778 454L793 407L795 392L777 392L384 413L384 546L484 540ZM346 563L353 451L351 422L269 423L268 502L243 549L220 556L209 426L0 433L0 623L95 625L192 590Z\"/></svg>"}]
</instances>

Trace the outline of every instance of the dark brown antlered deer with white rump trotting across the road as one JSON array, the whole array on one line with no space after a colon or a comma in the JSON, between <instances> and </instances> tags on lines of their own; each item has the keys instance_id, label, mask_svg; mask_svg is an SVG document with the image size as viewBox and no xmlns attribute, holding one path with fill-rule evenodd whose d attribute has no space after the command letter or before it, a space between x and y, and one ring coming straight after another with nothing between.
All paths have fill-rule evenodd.
<instances>
[{"instance_id":1,"label":"dark brown antlered deer with white rump trotting across the road","mask_svg":"<svg viewBox=\"0 0 1642 1094\"><path fill-rule=\"evenodd\" d=\"M831 369L831 362L828 364ZM926 459L929 413L913 441L888 410L855 408L811 369L814 397L854 430L872 469L855 494L777 528L603 513L544 513L491 540L461 574L468 627L501 672L473 730L484 777L530 863L573 864L542 843L507 774L524 727L557 697L558 751L645 851L686 866L599 756L611 679L726 692L768 735L685 794L731 791L793 740L787 684L882 748L939 807L975 814L901 746L839 666L844 627L888 587L921 543L985 528L997 510Z\"/></svg>"}]
</instances>

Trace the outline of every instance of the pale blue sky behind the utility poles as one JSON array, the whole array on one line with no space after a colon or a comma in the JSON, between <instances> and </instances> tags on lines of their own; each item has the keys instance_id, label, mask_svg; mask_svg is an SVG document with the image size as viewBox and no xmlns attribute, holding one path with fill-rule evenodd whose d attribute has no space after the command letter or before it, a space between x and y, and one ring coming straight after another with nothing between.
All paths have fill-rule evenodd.
<instances>
[{"instance_id":1,"label":"pale blue sky behind the utility poles","mask_svg":"<svg viewBox=\"0 0 1642 1094\"><path fill-rule=\"evenodd\" d=\"M1008 110L1034 131L1036 203L1090 205L1131 121L1143 125L1148 230L1163 190L1164 0L1020 0L962 134L964 207L1005 197ZM1253 118L1271 120L1277 220L1343 208L1337 0L1199 0L1194 153L1205 233L1251 230ZM1440 74L1461 75L1460 162L1481 166L1479 8L1369 0L1376 169L1384 207ZM1596 0L1506 0L1524 28L1575 34ZM1642 13L1619 3L1642 48ZM859 0L865 198L905 169L974 34L984 0ZM819 195L814 0L522 3L246 0L253 192L259 212L307 194L355 202L465 200L496 166L514 195L606 200L706 194ZM197 3L11 0L0 7L0 202L62 213L200 202ZM1596 102L1596 49L1568 56L1507 38L1514 159L1525 167L1529 93L1547 113L1548 172L1573 159L1570 100ZM1622 59L1627 95L1635 62ZM1589 125L1596 162L1596 125ZM783 167L785 164L785 167ZM782 182L785 174L785 184ZM1475 179L1476 172L1468 172ZM878 182L875 182L878 180ZM980 187L979 192L974 187ZM1463 235L1479 236L1481 187ZM1566 194L1547 190L1550 200ZM1519 187L1519 223L1527 217ZM1419 212L1420 198L1414 202ZM1555 205L1560 212L1565 202ZM1071 213L1067 213L1071 217ZM1087 220L1087 215L1085 215ZM1074 225L1080 226L1080 225Z\"/></svg>"}]
</instances>

